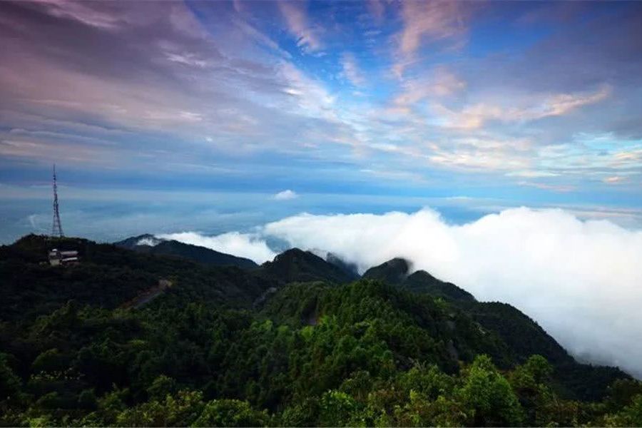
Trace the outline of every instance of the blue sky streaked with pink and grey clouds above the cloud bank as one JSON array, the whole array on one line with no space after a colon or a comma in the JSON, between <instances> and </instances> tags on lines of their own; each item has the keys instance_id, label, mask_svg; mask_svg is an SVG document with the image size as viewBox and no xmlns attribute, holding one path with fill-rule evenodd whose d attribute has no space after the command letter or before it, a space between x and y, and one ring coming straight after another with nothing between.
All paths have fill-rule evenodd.
<instances>
[{"instance_id":1,"label":"blue sky streaked with pink and grey clouds above the cloud bank","mask_svg":"<svg viewBox=\"0 0 642 428\"><path fill-rule=\"evenodd\" d=\"M642 225L639 3L20 1L0 37L3 242L48 230L54 162L98 239L424 205Z\"/></svg>"}]
</instances>

